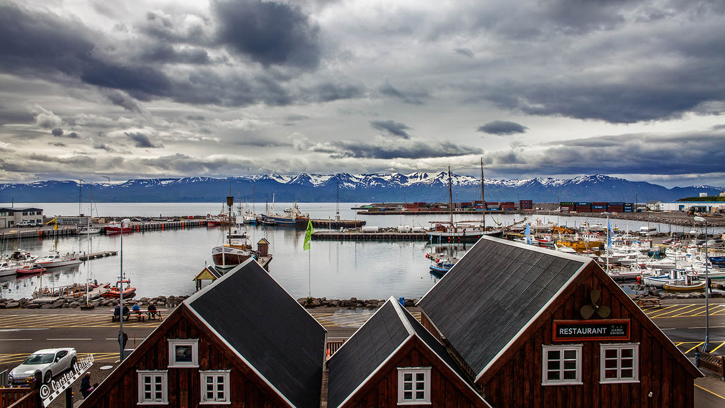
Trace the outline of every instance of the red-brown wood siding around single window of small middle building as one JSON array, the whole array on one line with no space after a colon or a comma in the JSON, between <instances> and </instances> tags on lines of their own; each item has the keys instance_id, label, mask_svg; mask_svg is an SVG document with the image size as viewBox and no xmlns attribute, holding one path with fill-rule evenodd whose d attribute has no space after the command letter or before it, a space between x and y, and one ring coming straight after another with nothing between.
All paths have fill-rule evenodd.
<instances>
[{"instance_id":1,"label":"red-brown wood siding around single window of small middle building","mask_svg":"<svg viewBox=\"0 0 725 408\"><path fill-rule=\"evenodd\" d=\"M431 403L433 407L486 407L475 391L448 370L438 356L418 338L411 338L368 383L344 404L344 407L397 407L397 367L431 367ZM405 407L431 407L406 405Z\"/></svg>"}]
</instances>

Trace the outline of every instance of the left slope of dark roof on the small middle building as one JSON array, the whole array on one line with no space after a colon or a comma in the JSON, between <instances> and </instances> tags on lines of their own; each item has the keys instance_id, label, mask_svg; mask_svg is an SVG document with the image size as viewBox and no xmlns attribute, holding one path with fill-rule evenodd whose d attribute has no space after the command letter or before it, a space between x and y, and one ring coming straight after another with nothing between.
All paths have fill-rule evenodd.
<instances>
[{"instance_id":1,"label":"left slope of dark roof on the small middle building","mask_svg":"<svg viewBox=\"0 0 725 408\"><path fill-rule=\"evenodd\" d=\"M409 335L392 303L381 306L328 360L328 407L342 404Z\"/></svg>"}]
</instances>

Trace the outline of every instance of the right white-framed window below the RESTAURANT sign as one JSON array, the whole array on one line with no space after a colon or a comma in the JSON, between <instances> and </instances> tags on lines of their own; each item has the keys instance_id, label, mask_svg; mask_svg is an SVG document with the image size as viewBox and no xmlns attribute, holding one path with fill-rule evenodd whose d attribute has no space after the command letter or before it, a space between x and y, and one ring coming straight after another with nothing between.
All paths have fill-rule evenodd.
<instances>
[{"instance_id":1,"label":"right white-framed window below the RESTAURANT sign","mask_svg":"<svg viewBox=\"0 0 725 408\"><path fill-rule=\"evenodd\" d=\"M639 343L599 346L600 383L639 383Z\"/></svg>"}]
</instances>

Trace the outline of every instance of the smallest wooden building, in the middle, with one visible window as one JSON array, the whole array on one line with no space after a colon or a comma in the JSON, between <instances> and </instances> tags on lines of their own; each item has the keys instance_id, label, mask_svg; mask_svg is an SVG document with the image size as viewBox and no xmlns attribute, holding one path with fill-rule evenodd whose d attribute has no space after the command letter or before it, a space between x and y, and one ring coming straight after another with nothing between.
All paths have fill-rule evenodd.
<instances>
[{"instance_id":1,"label":"smallest wooden building, in the middle, with one visible window","mask_svg":"<svg viewBox=\"0 0 725 408\"><path fill-rule=\"evenodd\" d=\"M489 407L455 361L388 299L328 360L327 406Z\"/></svg>"}]
</instances>

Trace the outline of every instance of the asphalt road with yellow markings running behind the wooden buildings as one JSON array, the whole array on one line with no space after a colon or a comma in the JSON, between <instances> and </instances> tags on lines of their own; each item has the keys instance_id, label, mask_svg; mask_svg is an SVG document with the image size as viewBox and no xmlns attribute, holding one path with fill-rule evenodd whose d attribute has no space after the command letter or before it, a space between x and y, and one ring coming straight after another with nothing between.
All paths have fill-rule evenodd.
<instances>
[{"instance_id":1,"label":"asphalt road with yellow markings running behind the wooden buildings","mask_svg":"<svg viewBox=\"0 0 725 408\"><path fill-rule=\"evenodd\" d=\"M725 299L710 304L710 351L725 354ZM410 308L415 317L417 308ZM695 348L705 340L705 303L703 299L663 302L661 307L645 307L645 314L680 348L694 358ZM312 309L312 316L328 330L328 340L349 338L357 327L372 316L372 311L350 309ZM112 309L8 309L0 314L0 371L12 369L28 354L41 348L75 347L79 356L94 354L94 366L115 365L118 360L118 322L111 321ZM126 348L133 348L148 336L158 320L124 322L128 335ZM107 375L99 373L98 376ZM94 373L96 380L101 380ZM725 383L712 378L695 382L696 407L725 407Z\"/></svg>"}]
</instances>

